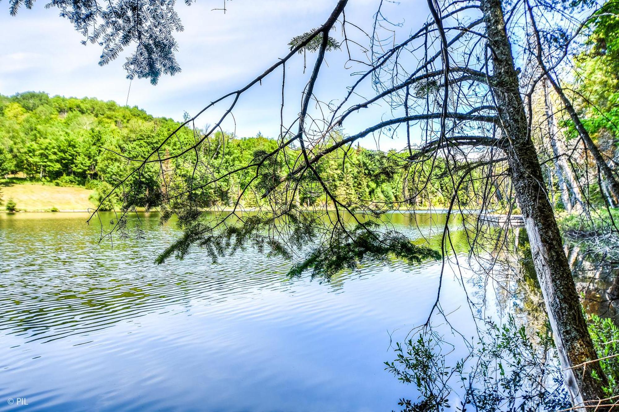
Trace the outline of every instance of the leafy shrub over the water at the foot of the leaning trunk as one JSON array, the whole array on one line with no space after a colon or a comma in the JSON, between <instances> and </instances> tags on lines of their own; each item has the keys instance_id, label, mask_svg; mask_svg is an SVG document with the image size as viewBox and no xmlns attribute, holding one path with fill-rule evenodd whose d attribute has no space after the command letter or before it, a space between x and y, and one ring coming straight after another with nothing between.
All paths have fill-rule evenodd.
<instances>
[{"instance_id":1,"label":"leafy shrub over the water at the foot of the leaning trunk","mask_svg":"<svg viewBox=\"0 0 619 412\"><path fill-rule=\"evenodd\" d=\"M397 344L397 357L385 363L386 370L420 393L418 401L400 400L404 411L444 411L456 395L461 411L550 412L571 406L549 333L532 340L510 315L503 325L487 321L470 354L449 366L453 348L431 329Z\"/></svg>"}]
</instances>

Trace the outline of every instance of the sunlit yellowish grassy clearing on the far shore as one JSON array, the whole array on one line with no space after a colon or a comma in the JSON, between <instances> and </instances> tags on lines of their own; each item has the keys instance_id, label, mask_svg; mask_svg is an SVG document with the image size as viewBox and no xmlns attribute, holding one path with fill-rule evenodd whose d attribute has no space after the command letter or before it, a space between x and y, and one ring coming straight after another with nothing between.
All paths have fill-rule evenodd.
<instances>
[{"instance_id":1,"label":"sunlit yellowish grassy clearing on the far shore","mask_svg":"<svg viewBox=\"0 0 619 412\"><path fill-rule=\"evenodd\" d=\"M0 183L2 205L0 210L6 211L5 205L13 199L17 210L24 212L50 212L53 208L60 212L85 211L93 207L89 196L92 191L83 187L59 187L42 184Z\"/></svg>"}]
</instances>

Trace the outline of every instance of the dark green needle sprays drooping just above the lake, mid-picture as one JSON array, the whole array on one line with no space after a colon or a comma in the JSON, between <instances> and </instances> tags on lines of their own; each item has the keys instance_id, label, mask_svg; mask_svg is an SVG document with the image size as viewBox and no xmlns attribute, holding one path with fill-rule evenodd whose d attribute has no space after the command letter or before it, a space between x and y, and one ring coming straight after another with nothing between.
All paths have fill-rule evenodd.
<instances>
[{"instance_id":1,"label":"dark green needle sprays drooping just above the lake, mid-picture","mask_svg":"<svg viewBox=\"0 0 619 412\"><path fill-rule=\"evenodd\" d=\"M189 208L179 215L178 226L184 230L183 236L171 244L157 257L157 264L162 264L171 257L183 259L191 247L204 249L213 262L219 257L233 255L248 246L271 256L290 260L295 251L308 244L316 244L316 232L319 215L293 209L284 217L262 212L239 218L235 225L215 232L206 222L201 221L202 213ZM164 212L162 220L170 218ZM285 226L285 240L278 240L269 233ZM426 246L417 246L403 234L396 231L380 233L376 223L367 222L350 230L335 230L330 242L315 246L302 262L293 265L288 272L290 277L298 277L311 269L312 277L330 280L342 270L355 270L363 260L383 261L392 255L413 263L426 259L439 259L439 252Z\"/></svg>"}]
</instances>

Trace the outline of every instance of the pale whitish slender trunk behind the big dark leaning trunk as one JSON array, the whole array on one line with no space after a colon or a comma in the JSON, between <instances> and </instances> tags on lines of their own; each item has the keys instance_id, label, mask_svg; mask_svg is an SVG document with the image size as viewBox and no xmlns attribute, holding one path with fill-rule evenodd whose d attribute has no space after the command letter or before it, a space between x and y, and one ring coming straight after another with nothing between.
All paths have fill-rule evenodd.
<instances>
[{"instance_id":1,"label":"pale whitish slender trunk behind the big dark leaning trunk","mask_svg":"<svg viewBox=\"0 0 619 412\"><path fill-rule=\"evenodd\" d=\"M574 204L571 203L570 194L574 198L575 204L577 204L581 210L586 210L586 205L582 201L580 185L578 184L573 171L569 167L568 162L563 156L566 152L565 145L562 145L561 142L556 140L556 135L559 133L559 128L556 124L555 111L553 108L552 99L550 98L548 79L543 80L543 92L546 106L546 118L548 121L548 140L550 141L550 146L552 147L552 152L555 156L555 170L557 178L559 179L561 199L563 199L565 210L570 212L571 208L574 206Z\"/></svg>"}]
</instances>

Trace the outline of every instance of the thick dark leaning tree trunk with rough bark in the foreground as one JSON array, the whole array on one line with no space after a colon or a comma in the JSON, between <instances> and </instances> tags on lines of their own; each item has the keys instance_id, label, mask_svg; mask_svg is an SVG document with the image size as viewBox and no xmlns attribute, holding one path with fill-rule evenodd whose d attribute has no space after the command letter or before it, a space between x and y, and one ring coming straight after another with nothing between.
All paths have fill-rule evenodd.
<instances>
[{"instance_id":1,"label":"thick dark leaning tree trunk with rough bark in the foreground","mask_svg":"<svg viewBox=\"0 0 619 412\"><path fill-rule=\"evenodd\" d=\"M542 168L530 137L511 46L505 30L501 0L482 0L488 46L493 63L493 97L503 132L511 140L506 149L516 200L529 234L535 272L542 286L553 337L565 369L565 385L574 405L604 398L607 386L599 363L574 367L597 359L582 314L578 293L563 251L563 241L548 201ZM602 380L595 379L595 373ZM602 409L599 409L602 410Z\"/></svg>"}]
</instances>

